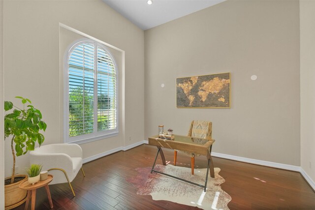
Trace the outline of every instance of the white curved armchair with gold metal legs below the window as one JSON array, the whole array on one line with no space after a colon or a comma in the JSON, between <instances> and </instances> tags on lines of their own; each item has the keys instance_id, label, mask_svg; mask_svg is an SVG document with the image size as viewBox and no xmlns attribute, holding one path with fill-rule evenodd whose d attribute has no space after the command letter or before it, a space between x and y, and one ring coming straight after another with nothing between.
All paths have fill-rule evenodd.
<instances>
[{"instance_id":1,"label":"white curved armchair with gold metal legs below the window","mask_svg":"<svg viewBox=\"0 0 315 210\"><path fill-rule=\"evenodd\" d=\"M49 171L54 176L50 184L68 182L73 193L71 181L82 169L82 149L76 144L51 144L44 145L30 151L31 164L41 164L42 171Z\"/></svg>"}]
</instances>

